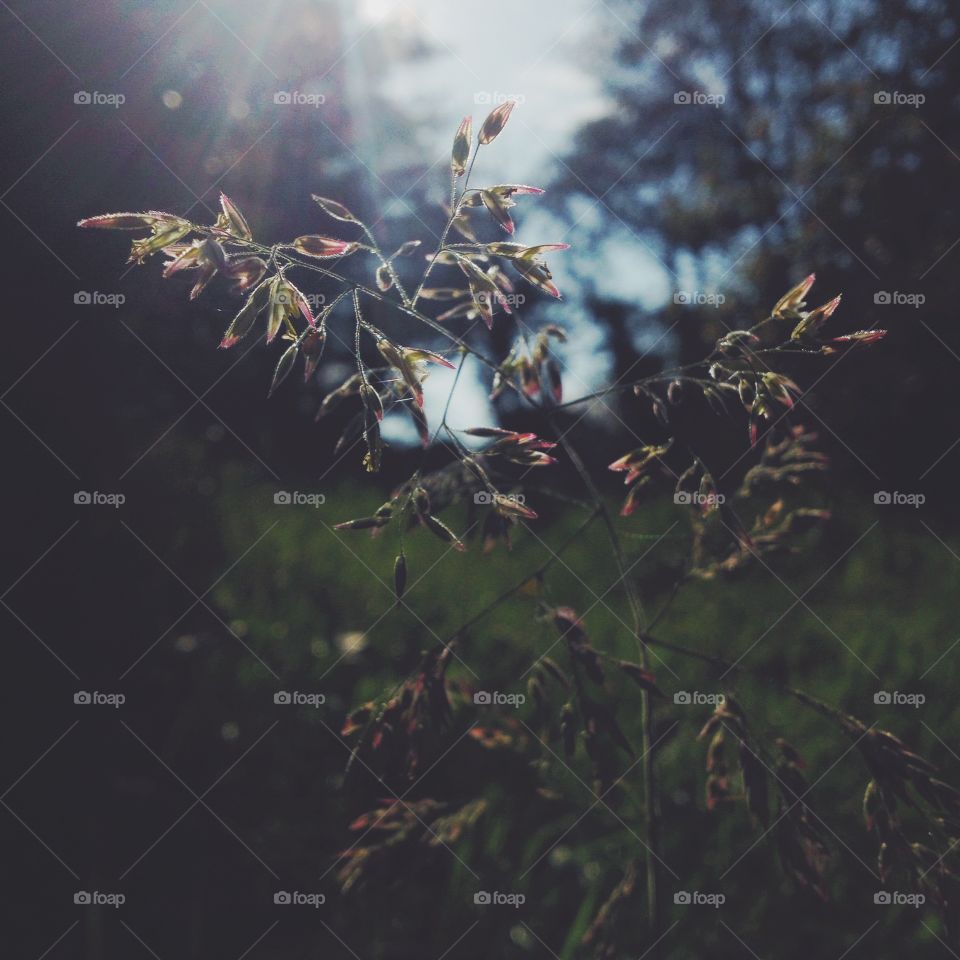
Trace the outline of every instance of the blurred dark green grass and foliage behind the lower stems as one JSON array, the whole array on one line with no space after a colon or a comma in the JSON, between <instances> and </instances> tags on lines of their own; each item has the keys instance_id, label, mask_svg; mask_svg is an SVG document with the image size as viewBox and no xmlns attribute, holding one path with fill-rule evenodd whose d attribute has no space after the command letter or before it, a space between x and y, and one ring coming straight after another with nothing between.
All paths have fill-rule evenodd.
<instances>
[{"instance_id":1,"label":"blurred dark green grass and foliage behind the lower stems","mask_svg":"<svg viewBox=\"0 0 960 960\"><path fill-rule=\"evenodd\" d=\"M409 783L378 783L365 766L368 754L345 778L347 743L353 740L338 732L350 709L388 693L415 668L423 650L453 637L454 687L523 692L537 657L549 653L562 662L564 656L552 626L537 617L540 601L574 607L585 614L596 648L635 659L626 604L611 589L616 574L602 526L595 523L577 537L542 582L529 584L461 633L465 621L549 559L547 542L563 542L584 517L571 511L547 527L533 526L517 536L511 552L501 546L485 557L476 542L462 555L426 531L411 531L405 537L409 586L405 605L398 606L393 529L375 538L332 529L335 522L371 512L380 501L375 492L337 487L316 509L274 507L274 493L239 471L225 475L218 501L225 553L239 555L269 532L214 596L232 630L280 675L281 688L326 697L318 710L282 708L288 711L284 747L261 774L271 797L268 829L287 851L287 867L323 877L319 889L342 915L338 927L349 930L351 945L364 955L439 955L478 919L464 956L536 956L543 950L539 938L558 956L578 955L580 939L625 864L642 856L638 766L597 802L582 745L568 766L559 744L538 743L529 699L517 711L476 707L468 696L455 699L451 728L409 794ZM809 538L804 554L771 569L754 567L736 580L688 583L656 637L728 661L742 656L751 670L890 729L940 764L951 780L957 758L937 733L949 729L953 716L956 628L943 603L954 579L949 554L911 516L898 514L877 525L872 504L833 506L833 521ZM461 530L463 518L450 513ZM689 521L681 508L656 501L621 525L631 562L659 543L633 571L648 612L655 611L669 594ZM672 901L674 891L698 890L727 898L719 910L669 903L668 923L684 919L670 934L669 955L730 956L735 947L729 927L759 955L839 954L875 921L891 942L909 942L920 956L938 955L932 911L881 911L873 903L881 886L871 875L875 841L861 816L868 776L836 725L746 674L722 678L709 664L669 651L655 654L657 681L667 695L658 701L654 734L665 895ZM237 647L212 651L198 670L206 677L199 682L237 686L246 714L263 713L262 720L248 719L252 729L281 709L271 702L278 682ZM639 743L637 688L612 673L607 688L627 738ZM926 703L919 709L874 704L875 692L894 689L923 693ZM785 878L769 840L756 842L758 831L741 801L705 809L705 744L695 738L711 708L675 705L672 695L679 690L735 694L759 740L770 744L785 737L801 752L813 785L811 806L830 836L829 903ZM551 708L559 712L562 702L554 691ZM488 750L468 734L475 724L496 725L494 713L511 730L508 749ZM635 763L618 754L622 771ZM475 797L488 806L449 849L430 845L424 830L424 839L404 848L398 864L373 871L340 894L331 870L337 851L361 835L348 825L394 795L411 803L431 797L451 811ZM477 890L523 893L527 899L518 909L478 908L472 901ZM388 909L376 906L381 902ZM798 926L801 905L805 919ZM382 924L364 921L372 909L382 914ZM643 945L639 897L630 912L623 956ZM512 948L504 946L507 937Z\"/></svg>"}]
</instances>

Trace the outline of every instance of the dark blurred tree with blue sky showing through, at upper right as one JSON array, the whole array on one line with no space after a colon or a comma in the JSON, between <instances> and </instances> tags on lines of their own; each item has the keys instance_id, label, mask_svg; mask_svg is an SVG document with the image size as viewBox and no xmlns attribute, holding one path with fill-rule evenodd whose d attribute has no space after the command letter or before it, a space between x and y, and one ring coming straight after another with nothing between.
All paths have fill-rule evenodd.
<instances>
[{"instance_id":1,"label":"dark blurred tree with blue sky showing through, at upper right","mask_svg":"<svg viewBox=\"0 0 960 960\"><path fill-rule=\"evenodd\" d=\"M816 265L819 289L843 288L846 329L891 336L869 380L846 362L824 376L811 425L847 446L855 391L873 413L849 456L873 487L880 477L949 487L956 450L925 474L956 440L960 216L945 202L960 173L956 8L651 0L614 10L626 35L608 79L617 109L582 130L551 196L565 215L596 204L596 222L578 228L595 241L628 227L676 291L725 296L696 322L685 304L654 311L677 323L685 358ZM616 329L616 305L594 310Z\"/></svg>"}]
</instances>

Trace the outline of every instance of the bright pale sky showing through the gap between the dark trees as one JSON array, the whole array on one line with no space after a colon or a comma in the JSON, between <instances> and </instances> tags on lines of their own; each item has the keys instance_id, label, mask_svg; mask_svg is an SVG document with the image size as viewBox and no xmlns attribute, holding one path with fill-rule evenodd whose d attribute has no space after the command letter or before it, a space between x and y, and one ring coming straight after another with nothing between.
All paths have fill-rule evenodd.
<instances>
[{"instance_id":1,"label":"bright pale sky showing through the gap between the dark trees","mask_svg":"<svg viewBox=\"0 0 960 960\"><path fill-rule=\"evenodd\" d=\"M540 185L549 181L561 168L580 127L613 109L597 64L610 62L613 47L628 28L605 3L486 0L452 5L447 0L361 0L353 9L355 17L348 22L358 37L375 27L384 32L388 44L390 38L403 43L405 37L416 34L433 49L431 56L396 61L378 91L404 113L423 121L428 156L448 155L452 132L465 113L472 113L478 124L496 103L508 98L518 101L496 149L481 153L474 183ZM563 304L551 311L550 320L574 332L576 341L575 349L563 351L565 399L596 389L608 373L610 358L584 312L584 291L564 261L602 260L608 268L593 271L596 288L611 299L654 307L672 289L668 276L643 246L616 225L599 248L592 245L577 253L577 227L596 226L607 219L601 209L585 202L569 222L538 212L532 199L517 211L514 239L565 241L574 246L569 254L556 255L550 262L564 293ZM426 389L431 420L439 416L451 381L452 375L431 375ZM493 420L485 386L465 375L458 384L450 420L456 426L469 426L483 418ZM408 431L405 422L395 419L388 438L391 434L396 440L410 439L412 428Z\"/></svg>"}]
</instances>

